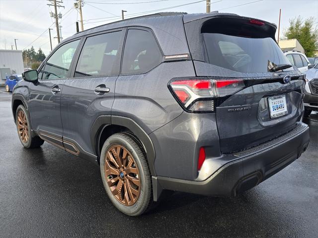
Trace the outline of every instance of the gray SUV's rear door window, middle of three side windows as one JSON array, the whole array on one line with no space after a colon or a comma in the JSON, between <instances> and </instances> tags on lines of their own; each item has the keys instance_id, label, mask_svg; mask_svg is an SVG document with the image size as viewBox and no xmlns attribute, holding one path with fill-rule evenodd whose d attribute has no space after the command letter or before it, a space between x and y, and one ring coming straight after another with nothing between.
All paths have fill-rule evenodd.
<instances>
[{"instance_id":1,"label":"gray SUV's rear door window, middle of three side windows","mask_svg":"<svg viewBox=\"0 0 318 238\"><path fill-rule=\"evenodd\" d=\"M121 31L117 31L88 37L81 50L74 76L111 75L118 58L121 34Z\"/></svg>"}]
</instances>

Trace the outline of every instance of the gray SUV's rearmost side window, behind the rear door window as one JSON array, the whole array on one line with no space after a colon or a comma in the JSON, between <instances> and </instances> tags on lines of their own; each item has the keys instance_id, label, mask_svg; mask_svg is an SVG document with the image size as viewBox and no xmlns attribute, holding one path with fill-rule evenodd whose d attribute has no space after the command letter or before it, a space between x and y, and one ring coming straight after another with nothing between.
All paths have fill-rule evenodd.
<instances>
[{"instance_id":1,"label":"gray SUV's rearmost side window, behind the rear door window","mask_svg":"<svg viewBox=\"0 0 318 238\"><path fill-rule=\"evenodd\" d=\"M145 73L159 65L161 60L159 46L151 32L139 29L128 30L121 73Z\"/></svg>"}]
</instances>

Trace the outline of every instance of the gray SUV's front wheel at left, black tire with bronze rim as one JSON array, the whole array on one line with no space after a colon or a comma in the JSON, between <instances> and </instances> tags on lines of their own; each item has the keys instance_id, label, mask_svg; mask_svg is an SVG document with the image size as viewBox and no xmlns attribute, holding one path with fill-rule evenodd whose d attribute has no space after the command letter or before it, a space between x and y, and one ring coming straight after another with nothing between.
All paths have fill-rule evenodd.
<instances>
[{"instance_id":1,"label":"gray SUV's front wheel at left, black tire with bronze rim","mask_svg":"<svg viewBox=\"0 0 318 238\"><path fill-rule=\"evenodd\" d=\"M36 148L43 145L44 140L39 136L32 137L29 115L22 105L19 105L16 109L15 123L19 139L25 148Z\"/></svg>"}]
</instances>

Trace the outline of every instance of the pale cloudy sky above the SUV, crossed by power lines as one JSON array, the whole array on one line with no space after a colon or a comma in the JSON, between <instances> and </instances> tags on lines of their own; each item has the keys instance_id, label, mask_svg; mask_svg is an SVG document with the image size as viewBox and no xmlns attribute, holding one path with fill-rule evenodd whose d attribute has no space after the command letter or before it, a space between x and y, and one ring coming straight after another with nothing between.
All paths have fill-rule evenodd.
<instances>
[{"instance_id":1,"label":"pale cloudy sky above the SUV, crossed by power lines","mask_svg":"<svg viewBox=\"0 0 318 238\"><path fill-rule=\"evenodd\" d=\"M84 0L82 8L84 29L121 19L122 9L127 10L125 13L127 18L160 11L205 12L205 0L188 4L196 1L199 0ZM79 19L79 14L74 8L74 2L75 0L63 0L62 5L65 8L58 9L63 15L60 22L64 39L76 32L75 22ZM304 18L313 16L316 22L318 21L318 0L211 0L211 2L211 11L237 13L277 25L279 8L281 8L281 35L288 27L289 19L298 15ZM0 0L0 49L11 49L14 39L18 39L16 41L18 50L31 46L37 50L41 47L47 55L50 52L47 30L49 27L53 29L52 38L56 37L56 27L53 18L49 15L50 11L54 11L54 7L48 6L48 3L47 0ZM182 4L188 5L173 7ZM167 7L173 8L162 9ZM57 39L52 39L52 45L53 48L57 45Z\"/></svg>"}]
</instances>

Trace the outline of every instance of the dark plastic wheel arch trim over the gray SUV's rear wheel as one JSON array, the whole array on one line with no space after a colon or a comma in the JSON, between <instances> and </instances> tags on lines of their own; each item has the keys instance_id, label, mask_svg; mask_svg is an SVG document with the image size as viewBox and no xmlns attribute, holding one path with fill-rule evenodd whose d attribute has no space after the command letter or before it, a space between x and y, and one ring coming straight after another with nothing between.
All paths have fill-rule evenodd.
<instances>
[{"instance_id":1,"label":"dark plastic wheel arch trim over the gray SUV's rear wheel","mask_svg":"<svg viewBox=\"0 0 318 238\"><path fill-rule=\"evenodd\" d=\"M156 172L154 163L156 154L154 145L143 128L130 118L120 116L99 116L94 121L91 128L90 137L92 148L94 148L96 150L96 154L99 155L99 147L102 146L100 139L105 141L110 135L127 129L134 133L144 147L151 175L155 176Z\"/></svg>"}]
</instances>

